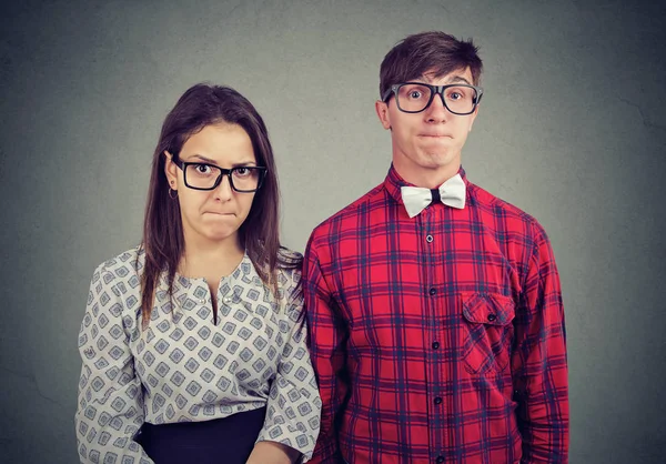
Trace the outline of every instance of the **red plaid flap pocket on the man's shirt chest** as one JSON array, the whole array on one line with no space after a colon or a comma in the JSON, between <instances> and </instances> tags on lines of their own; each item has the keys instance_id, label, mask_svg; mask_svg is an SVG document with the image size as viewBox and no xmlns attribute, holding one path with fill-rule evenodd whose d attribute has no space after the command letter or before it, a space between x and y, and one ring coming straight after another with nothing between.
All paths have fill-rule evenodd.
<instances>
[{"instance_id":1,"label":"red plaid flap pocket on the man's shirt chest","mask_svg":"<svg viewBox=\"0 0 666 464\"><path fill-rule=\"evenodd\" d=\"M462 342L471 374L501 373L509 362L515 303L500 293L462 294Z\"/></svg>"}]
</instances>

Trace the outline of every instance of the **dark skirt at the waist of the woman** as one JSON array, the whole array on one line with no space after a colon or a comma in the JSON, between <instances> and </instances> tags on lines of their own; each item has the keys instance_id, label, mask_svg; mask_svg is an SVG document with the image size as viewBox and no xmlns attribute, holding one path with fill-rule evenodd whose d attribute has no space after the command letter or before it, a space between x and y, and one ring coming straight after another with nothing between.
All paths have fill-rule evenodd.
<instances>
[{"instance_id":1,"label":"dark skirt at the waist of the woman","mask_svg":"<svg viewBox=\"0 0 666 464\"><path fill-rule=\"evenodd\" d=\"M155 464L245 464L266 408L204 422L144 423L137 442Z\"/></svg>"}]
</instances>

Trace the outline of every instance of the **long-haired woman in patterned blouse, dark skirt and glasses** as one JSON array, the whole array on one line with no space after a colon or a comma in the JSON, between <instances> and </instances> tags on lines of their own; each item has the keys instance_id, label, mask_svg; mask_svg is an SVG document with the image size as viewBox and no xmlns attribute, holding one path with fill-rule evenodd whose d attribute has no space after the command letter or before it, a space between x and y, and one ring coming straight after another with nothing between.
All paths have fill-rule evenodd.
<instances>
[{"instance_id":1,"label":"long-haired woman in patterned blouse, dark skirt and glasses","mask_svg":"<svg viewBox=\"0 0 666 464\"><path fill-rule=\"evenodd\" d=\"M79 455L94 463L306 461L321 401L302 256L280 246L263 120L198 84L167 117L140 246L93 274L79 336Z\"/></svg>"}]
</instances>

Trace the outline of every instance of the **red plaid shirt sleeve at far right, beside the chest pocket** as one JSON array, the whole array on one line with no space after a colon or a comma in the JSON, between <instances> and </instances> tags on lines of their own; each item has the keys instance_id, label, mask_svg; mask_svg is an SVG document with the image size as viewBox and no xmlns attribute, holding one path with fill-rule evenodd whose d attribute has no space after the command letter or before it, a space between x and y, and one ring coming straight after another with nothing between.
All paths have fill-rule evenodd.
<instances>
[{"instance_id":1,"label":"red plaid shirt sleeve at far right, beside the chest pocket","mask_svg":"<svg viewBox=\"0 0 666 464\"><path fill-rule=\"evenodd\" d=\"M568 462L566 334L559 276L545 231L534 249L516 314L512 357L522 464Z\"/></svg>"}]
</instances>

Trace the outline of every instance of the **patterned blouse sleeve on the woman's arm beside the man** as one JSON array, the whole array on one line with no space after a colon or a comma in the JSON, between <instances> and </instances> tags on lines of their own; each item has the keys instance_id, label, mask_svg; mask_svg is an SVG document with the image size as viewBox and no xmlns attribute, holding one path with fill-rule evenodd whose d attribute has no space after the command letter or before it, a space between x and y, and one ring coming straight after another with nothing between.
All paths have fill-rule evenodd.
<instances>
[{"instance_id":1,"label":"patterned blouse sleeve on the woman's arm beside the man","mask_svg":"<svg viewBox=\"0 0 666 464\"><path fill-rule=\"evenodd\" d=\"M300 451L306 462L316 443L322 403L307 352L301 285L286 299L279 327L283 350L269 393L266 418L256 441L291 446Z\"/></svg>"}]
</instances>

